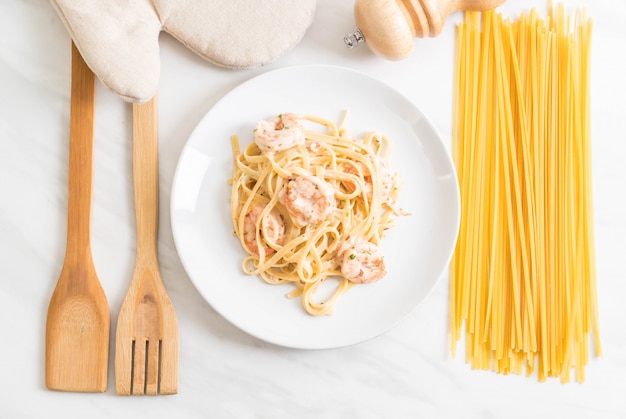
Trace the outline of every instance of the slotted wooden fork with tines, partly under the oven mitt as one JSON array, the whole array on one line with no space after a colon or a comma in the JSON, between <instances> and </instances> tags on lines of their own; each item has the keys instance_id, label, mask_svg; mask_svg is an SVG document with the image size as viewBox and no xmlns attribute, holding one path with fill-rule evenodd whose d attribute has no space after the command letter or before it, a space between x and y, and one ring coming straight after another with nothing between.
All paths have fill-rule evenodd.
<instances>
[{"instance_id":1,"label":"slotted wooden fork with tines, partly under the oven mitt","mask_svg":"<svg viewBox=\"0 0 626 419\"><path fill-rule=\"evenodd\" d=\"M135 271L117 319L117 394L178 392L178 322L159 271L157 98L133 104Z\"/></svg>"}]
</instances>

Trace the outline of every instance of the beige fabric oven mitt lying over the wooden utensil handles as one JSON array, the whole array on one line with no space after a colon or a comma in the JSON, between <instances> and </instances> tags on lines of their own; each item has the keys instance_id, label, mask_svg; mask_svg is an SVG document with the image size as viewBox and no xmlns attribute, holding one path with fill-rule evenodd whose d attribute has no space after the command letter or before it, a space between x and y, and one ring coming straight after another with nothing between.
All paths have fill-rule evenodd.
<instances>
[{"instance_id":1,"label":"beige fabric oven mitt lying over the wooden utensil handles","mask_svg":"<svg viewBox=\"0 0 626 419\"><path fill-rule=\"evenodd\" d=\"M226 68L268 64L294 47L316 0L51 0L104 85L131 102L157 90L165 31Z\"/></svg>"}]
</instances>

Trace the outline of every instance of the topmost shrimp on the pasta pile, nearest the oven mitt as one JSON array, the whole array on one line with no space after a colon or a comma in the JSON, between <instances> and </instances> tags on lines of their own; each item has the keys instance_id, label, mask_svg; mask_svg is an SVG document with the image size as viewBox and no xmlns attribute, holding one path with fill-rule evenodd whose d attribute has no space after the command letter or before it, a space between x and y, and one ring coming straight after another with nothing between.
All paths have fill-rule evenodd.
<instances>
[{"instance_id":1,"label":"topmost shrimp on the pasta pile, nearest the oven mitt","mask_svg":"<svg viewBox=\"0 0 626 419\"><path fill-rule=\"evenodd\" d=\"M293 113L259 121L254 130L254 141L265 153L287 150L305 143L304 128Z\"/></svg>"}]
</instances>

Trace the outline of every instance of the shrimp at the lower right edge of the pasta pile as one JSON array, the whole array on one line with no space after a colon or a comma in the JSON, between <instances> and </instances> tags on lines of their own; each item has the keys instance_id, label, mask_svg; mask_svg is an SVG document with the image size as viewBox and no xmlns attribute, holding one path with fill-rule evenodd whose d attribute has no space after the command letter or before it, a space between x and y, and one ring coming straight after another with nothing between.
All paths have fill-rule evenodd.
<instances>
[{"instance_id":1,"label":"shrimp at the lower right edge of the pasta pile","mask_svg":"<svg viewBox=\"0 0 626 419\"><path fill-rule=\"evenodd\" d=\"M378 246L362 237L343 241L337 250L337 261L344 278L357 284L376 282L387 274Z\"/></svg>"}]
</instances>

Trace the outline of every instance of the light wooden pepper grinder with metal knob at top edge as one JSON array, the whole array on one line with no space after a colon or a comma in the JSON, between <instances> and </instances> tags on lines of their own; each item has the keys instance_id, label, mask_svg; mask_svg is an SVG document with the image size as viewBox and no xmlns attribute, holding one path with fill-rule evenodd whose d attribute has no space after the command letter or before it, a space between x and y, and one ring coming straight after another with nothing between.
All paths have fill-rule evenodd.
<instances>
[{"instance_id":1,"label":"light wooden pepper grinder with metal knob at top edge","mask_svg":"<svg viewBox=\"0 0 626 419\"><path fill-rule=\"evenodd\" d=\"M344 42L354 48L367 42L377 55L388 60L406 58L415 38L439 35L446 17L457 10L484 11L505 0L356 0L356 32Z\"/></svg>"}]
</instances>

